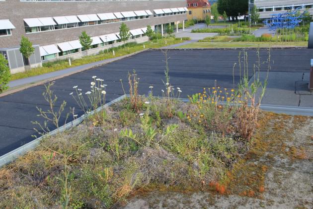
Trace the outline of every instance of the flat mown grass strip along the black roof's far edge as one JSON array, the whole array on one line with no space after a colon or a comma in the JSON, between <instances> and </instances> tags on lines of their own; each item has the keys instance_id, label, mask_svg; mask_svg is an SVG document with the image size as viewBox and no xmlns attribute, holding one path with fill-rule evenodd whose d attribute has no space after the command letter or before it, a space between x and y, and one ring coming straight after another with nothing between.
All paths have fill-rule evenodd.
<instances>
[{"instance_id":1,"label":"flat mown grass strip along the black roof's far edge","mask_svg":"<svg viewBox=\"0 0 313 209\"><path fill-rule=\"evenodd\" d=\"M249 48L249 47L281 47L308 46L307 41L295 42L195 42L176 48Z\"/></svg>"}]
</instances>

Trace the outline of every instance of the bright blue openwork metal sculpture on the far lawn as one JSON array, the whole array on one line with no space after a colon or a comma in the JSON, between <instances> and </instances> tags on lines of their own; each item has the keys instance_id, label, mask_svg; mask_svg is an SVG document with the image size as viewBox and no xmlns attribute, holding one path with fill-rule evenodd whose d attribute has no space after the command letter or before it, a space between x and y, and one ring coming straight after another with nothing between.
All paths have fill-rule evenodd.
<instances>
[{"instance_id":1,"label":"bright blue openwork metal sculpture on the far lawn","mask_svg":"<svg viewBox=\"0 0 313 209\"><path fill-rule=\"evenodd\" d=\"M271 14L270 19L263 21L270 30L276 30L279 28L288 28L294 29L299 26L299 23L302 21L304 14L308 11L304 11L302 14L298 14L297 10L290 10L285 13Z\"/></svg>"}]
</instances>

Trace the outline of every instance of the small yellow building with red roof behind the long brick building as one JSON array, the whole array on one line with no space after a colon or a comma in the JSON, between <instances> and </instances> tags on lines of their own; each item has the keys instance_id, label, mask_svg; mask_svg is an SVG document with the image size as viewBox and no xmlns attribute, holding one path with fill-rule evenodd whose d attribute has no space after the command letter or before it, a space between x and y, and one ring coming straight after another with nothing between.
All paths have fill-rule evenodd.
<instances>
[{"instance_id":1,"label":"small yellow building with red roof behind the long brick building","mask_svg":"<svg viewBox=\"0 0 313 209\"><path fill-rule=\"evenodd\" d=\"M187 18L204 20L208 15L211 17L211 4L207 0L187 0Z\"/></svg>"}]
</instances>

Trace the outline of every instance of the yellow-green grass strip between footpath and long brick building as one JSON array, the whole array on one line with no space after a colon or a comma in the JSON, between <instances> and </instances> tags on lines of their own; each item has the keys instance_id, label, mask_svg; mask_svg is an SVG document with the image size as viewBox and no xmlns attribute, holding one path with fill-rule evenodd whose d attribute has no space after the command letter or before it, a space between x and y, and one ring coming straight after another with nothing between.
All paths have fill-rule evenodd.
<instances>
[{"instance_id":1,"label":"yellow-green grass strip between footpath and long brick building","mask_svg":"<svg viewBox=\"0 0 313 209\"><path fill-rule=\"evenodd\" d=\"M166 41L166 43L165 43L165 41ZM17 79L28 78L28 77L32 77L32 76L38 76L38 75L42 75L42 74L46 74L46 73L50 73L50 72L54 72L54 71L64 70L66 68L84 65L84 64L88 64L88 63L92 63L92 62L97 62L100 60L111 59L114 57L128 55L128 54L143 50L144 44L145 44L146 48L160 48L163 46L177 44L177 43L181 43L181 42L183 42L183 41L181 41L180 39L174 39L174 38L166 38L165 39L165 38L163 38L163 39L158 40L158 41L154 40L151 42L145 42L145 43L140 43L140 44L130 43L130 44L128 44L130 47L124 48L123 46L120 46L120 47L114 47L114 48L109 49L109 54L107 54L106 50L104 50L102 54L85 56L85 57L82 57L80 59L73 60L72 66L69 65L67 60L59 60L59 61L53 62L53 63L44 63L43 67L34 68L34 69L31 69L27 72L12 74L11 75L11 81L17 80ZM112 53L113 50L115 50L115 56L113 56L113 53Z\"/></svg>"}]
</instances>

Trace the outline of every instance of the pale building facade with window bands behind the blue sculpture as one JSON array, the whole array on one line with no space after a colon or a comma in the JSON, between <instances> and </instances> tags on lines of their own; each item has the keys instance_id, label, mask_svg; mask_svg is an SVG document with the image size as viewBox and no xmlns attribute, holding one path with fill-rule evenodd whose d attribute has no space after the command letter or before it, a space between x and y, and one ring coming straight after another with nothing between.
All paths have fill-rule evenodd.
<instances>
[{"instance_id":1,"label":"pale building facade with window bands behind the blue sculpture","mask_svg":"<svg viewBox=\"0 0 313 209\"><path fill-rule=\"evenodd\" d=\"M261 19L291 9L299 9L300 11L308 9L313 15L313 0L249 0L249 13L254 5L258 8Z\"/></svg>"}]
</instances>

